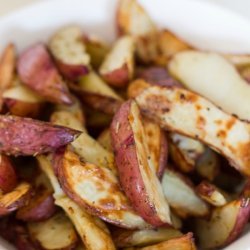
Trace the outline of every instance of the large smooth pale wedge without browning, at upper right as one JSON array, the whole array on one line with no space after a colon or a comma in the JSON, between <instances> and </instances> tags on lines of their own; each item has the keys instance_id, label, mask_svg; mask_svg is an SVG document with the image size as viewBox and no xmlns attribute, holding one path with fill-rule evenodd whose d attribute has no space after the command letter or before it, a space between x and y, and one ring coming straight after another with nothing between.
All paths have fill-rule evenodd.
<instances>
[{"instance_id":1,"label":"large smooth pale wedge without browning, at upper right","mask_svg":"<svg viewBox=\"0 0 250 250\"><path fill-rule=\"evenodd\" d=\"M186 51L174 56L168 69L188 89L204 96L225 112L250 120L249 84L222 56Z\"/></svg>"}]
</instances>

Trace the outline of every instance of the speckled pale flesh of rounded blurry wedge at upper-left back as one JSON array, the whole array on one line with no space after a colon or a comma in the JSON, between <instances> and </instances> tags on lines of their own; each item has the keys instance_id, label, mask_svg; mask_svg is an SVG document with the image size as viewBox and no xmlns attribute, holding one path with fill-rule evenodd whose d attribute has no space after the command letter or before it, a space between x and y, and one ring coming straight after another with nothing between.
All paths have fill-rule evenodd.
<instances>
[{"instance_id":1,"label":"speckled pale flesh of rounded blurry wedge at upper-left back","mask_svg":"<svg viewBox=\"0 0 250 250\"><path fill-rule=\"evenodd\" d=\"M59 30L51 39L49 47L56 59L70 65L88 65L90 57L81 41L82 31L78 26Z\"/></svg>"}]
</instances>

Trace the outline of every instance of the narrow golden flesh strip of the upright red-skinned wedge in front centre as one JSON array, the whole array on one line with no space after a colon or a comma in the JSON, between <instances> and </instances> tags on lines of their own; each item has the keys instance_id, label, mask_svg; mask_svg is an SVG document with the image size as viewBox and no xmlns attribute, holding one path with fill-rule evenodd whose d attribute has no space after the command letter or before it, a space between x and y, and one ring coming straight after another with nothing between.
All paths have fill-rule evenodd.
<instances>
[{"instance_id":1,"label":"narrow golden flesh strip of the upright red-skinned wedge in front centre","mask_svg":"<svg viewBox=\"0 0 250 250\"><path fill-rule=\"evenodd\" d=\"M168 203L164 197L162 187L155 174L155 167L151 161L148 161L147 156L149 155L148 147L145 147L143 142L146 141L146 135L144 132L143 125L139 120L140 114L139 109L135 102L131 105L131 111L129 117L129 123L133 130L134 140L136 145L136 155L138 159L138 165L142 179L145 185L145 192L148 195L150 203L153 204L156 210L156 214L160 220L171 224L170 210Z\"/></svg>"}]
</instances>

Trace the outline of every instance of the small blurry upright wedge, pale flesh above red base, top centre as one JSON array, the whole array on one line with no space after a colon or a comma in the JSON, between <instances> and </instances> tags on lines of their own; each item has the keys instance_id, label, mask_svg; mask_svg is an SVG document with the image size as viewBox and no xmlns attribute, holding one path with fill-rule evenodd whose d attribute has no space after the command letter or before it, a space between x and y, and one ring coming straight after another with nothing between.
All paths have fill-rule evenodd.
<instances>
[{"instance_id":1,"label":"small blurry upright wedge, pale flesh above red base, top centre","mask_svg":"<svg viewBox=\"0 0 250 250\"><path fill-rule=\"evenodd\" d=\"M99 69L108 84L124 87L133 78L134 47L131 36L122 36L115 42Z\"/></svg>"}]
</instances>

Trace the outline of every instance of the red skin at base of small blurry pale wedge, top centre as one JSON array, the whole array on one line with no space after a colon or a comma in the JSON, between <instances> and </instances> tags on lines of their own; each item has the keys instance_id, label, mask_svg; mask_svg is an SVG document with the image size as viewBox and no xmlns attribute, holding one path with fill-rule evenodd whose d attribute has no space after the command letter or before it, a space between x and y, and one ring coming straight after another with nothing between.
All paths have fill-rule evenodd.
<instances>
[{"instance_id":1,"label":"red skin at base of small blurry pale wedge, top centre","mask_svg":"<svg viewBox=\"0 0 250 250\"><path fill-rule=\"evenodd\" d=\"M125 87L129 82L129 70L127 64L125 63L121 68L103 74L102 78L113 87Z\"/></svg>"}]
</instances>

